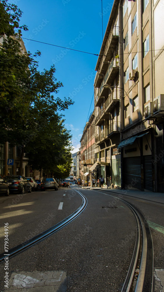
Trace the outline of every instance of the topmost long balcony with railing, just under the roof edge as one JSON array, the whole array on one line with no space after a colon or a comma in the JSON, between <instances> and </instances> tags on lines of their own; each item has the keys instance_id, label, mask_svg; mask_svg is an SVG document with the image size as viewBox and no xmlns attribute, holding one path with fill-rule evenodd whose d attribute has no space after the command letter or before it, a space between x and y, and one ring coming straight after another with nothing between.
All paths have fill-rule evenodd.
<instances>
[{"instance_id":1,"label":"topmost long balcony with railing, just under the roof edge","mask_svg":"<svg viewBox=\"0 0 164 292\"><path fill-rule=\"evenodd\" d=\"M113 56L113 51L115 50L115 47L118 43L119 35L120 27L118 26L112 27L104 49L104 56L102 56L100 60L100 63L98 65L99 67L98 68L96 67L97 75L95 78L95 87L100 87L101 85L102 79L104 77L103 75L106 73L108 69L108 61L111 60Z\"/></svg>"}]
</instances>

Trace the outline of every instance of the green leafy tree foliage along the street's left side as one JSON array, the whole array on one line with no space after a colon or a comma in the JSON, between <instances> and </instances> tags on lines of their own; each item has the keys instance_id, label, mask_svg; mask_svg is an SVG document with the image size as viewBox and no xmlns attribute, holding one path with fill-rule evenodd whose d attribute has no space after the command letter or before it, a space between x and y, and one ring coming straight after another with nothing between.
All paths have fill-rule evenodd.
<instances>
[{"instance_id":1,"label":"green leafy tree foliage along the street's left side","mask_svg":"<svg viewBox=\"0 0 164 292\"><path fill-rule=\"evenodd\" d=\"M27 30L19 26L21 15L16 5L0 1L0 142L20 148L20 174L24 152L35 169L54 170L60 156L60 165L69 168L65 153L71 150L71 135L60 111L73 102L54 98L63 86L54 65L40 72L35 59L40 52L21 51L22 29Z\"/></svg>"}]
</instances>

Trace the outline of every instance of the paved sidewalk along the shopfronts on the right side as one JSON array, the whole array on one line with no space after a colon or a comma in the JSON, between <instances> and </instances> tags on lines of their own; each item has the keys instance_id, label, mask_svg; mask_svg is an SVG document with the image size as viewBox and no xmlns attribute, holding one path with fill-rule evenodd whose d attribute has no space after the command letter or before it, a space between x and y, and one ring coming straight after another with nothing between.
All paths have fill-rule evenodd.
<instances>
[{"instance_id":1,"label":"paved sidewalk along the shopfronts on the right side","mask_svg":"<svg viewBox=\"0 0 164 292\"><path fill-rule=\"evenodd\" d=\"M80 187L79 187L80 188ZM102 190L101 187L82 187L82 189L90 190ZM129 197L136 197L138 199L145 199L156 203L164 204L164 193L143 192L140 190L120 190L120 189L107 189L107 186L103 186L103 190L106 192L112 192L115 194L122 194ZM124 197L124 198L125 198Z\"/></svg>"}]
</instances>

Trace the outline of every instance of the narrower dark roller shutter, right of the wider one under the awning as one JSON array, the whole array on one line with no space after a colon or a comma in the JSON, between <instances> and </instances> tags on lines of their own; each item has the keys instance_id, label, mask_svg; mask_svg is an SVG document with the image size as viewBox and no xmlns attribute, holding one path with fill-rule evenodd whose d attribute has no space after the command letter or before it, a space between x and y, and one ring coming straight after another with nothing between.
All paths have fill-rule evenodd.
<instances>
[{"instance_id":1,"label":"narrower dark roller shutter, right of the wider one under the awning","mask_svg":"<svg viewBox=\"0 0 164 292\"><path fill-rule=\"evenodd\" d=\"M153 192L151 155L144 156L144 189Z\"/></svg>"}]
</instances>

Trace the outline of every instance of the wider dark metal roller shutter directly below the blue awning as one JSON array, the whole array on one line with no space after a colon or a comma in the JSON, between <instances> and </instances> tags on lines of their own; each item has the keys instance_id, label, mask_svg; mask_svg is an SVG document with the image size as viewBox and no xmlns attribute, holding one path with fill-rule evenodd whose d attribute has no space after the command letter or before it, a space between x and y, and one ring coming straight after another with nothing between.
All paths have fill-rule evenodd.
<instances>
[{"instance_id":1,"label":"wider dark metal roller shutter directly below the blue awning","mask_svg":"<svg viewBox=\"0 0 164 292\"><path fill-rule=\"evenodd\" d=\"M142 190L140 156L124 158L124 182L126 187L129 185Z\"/></svg>"}]
</instances>

